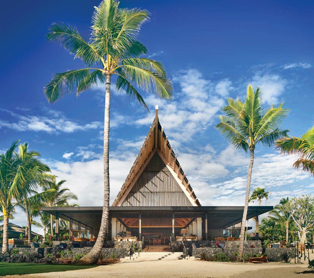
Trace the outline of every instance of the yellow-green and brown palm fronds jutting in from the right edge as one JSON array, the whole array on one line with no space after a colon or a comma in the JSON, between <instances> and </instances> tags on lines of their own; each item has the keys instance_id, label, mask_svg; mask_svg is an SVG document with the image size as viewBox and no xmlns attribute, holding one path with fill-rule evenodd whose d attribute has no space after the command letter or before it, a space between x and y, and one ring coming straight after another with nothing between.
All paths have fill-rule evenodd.
<instances>
[{"instance_id":1,"label":"yellow-green and brown palm fronds jutting in from the right edge","mask_svg":"<svg viewBox=\"0 0 314 278\"><path fill-rule=\"evenodd\" d=\"M289 137L276 141L275 148L281 154L298 155L293 166L314 176L314 125L301 138Z\"/></svg>"}]
</instances>

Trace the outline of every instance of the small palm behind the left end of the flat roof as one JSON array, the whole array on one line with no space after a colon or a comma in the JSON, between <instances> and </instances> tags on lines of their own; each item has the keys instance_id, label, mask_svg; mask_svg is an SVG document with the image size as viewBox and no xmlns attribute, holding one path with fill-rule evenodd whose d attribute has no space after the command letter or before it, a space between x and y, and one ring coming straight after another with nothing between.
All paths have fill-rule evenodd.
<instances>
[{"instance_id":1,"label":"small palm behind the left end of the flat roof","mask_svg":"<svg viewBox=\"0 0 314 278\"><path fill-rule=\"evenodd\" d=\"M43 192L49 191L51 189L55 190L55 194L51 198L47 198L44 206L46 207L60 207L64 204L68 204L69 200L77 200L78 197L70 189L62 187L62 184L65 183L65 180L59 182L56 181L42 181L41 189ZM57 221L57 220L56 220ZM53 216L50 215L50 225L51 225L51 235L53 236ZM57 223L56 223L57 225ZM56 239L57 240L57 239Z\"/></svg>"}]
</instances>

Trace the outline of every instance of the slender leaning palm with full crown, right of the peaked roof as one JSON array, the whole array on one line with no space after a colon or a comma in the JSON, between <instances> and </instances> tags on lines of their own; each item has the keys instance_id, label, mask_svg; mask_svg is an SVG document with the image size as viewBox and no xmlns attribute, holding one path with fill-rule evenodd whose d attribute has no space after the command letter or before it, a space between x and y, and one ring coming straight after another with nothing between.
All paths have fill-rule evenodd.
<instances>
[{"instance_id":1,"label":"slender leaning palm with full crown, right of the peaked roof","mask_svg":"<svg viewBox=\"0 0 314 278\"><path fill-rule=\"evenodd\" d=\"M273 146L273 142L287 136L288 129L281 130L279 124L289 114L289 109L283 108L281 103L278 108L271 105L263 109L261 89L257 87L254 92L252 85L247 86L247 95L244 102L239 97L227 98L228 105L222 108L223 115L219 115L215 128L235 148L250 151L250 164L247 172L246 196L241 224L240 247L237 260L241 260L244 244L244 230L247 216L247 207L250 197L251 175L254 162L254 150L257 144Z\"/></svg>"}]
</instances>

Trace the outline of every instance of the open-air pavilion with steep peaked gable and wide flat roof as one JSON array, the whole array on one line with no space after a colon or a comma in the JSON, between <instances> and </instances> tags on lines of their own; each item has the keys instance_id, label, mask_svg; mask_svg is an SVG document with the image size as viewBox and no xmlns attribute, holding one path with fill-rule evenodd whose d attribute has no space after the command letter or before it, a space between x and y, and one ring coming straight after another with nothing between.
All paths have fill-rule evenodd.
<instances>
[{"instance_id":1,"label":"open-air pavilion with steep peaked gable and wide flat roof","mask_svg":"<svg viewBox=\"0 0 314 278\"><path fill-rule=\"evenodd\" d=\"M127 231L141 239L163 234L173 239L193 234L198 239L223 235L238 237L244 207L201 206L158 120L155 119L115 201L109 207L107 239ZM248 207L247 219L272 210L272 206ZM78 236L85 231L97 237L102 207L43 207L42 211L68 220ZM58 232L58 231L57 231ZM257 234L258 237L258 234Z\"/></svg>"}]
</instances>

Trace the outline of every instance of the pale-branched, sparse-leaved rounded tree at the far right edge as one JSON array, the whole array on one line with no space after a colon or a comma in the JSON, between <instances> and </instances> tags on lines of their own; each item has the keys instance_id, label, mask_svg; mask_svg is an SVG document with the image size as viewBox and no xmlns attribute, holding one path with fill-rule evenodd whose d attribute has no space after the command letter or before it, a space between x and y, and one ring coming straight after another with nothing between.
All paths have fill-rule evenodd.
<instances>
[{"instance_id":1,"label":"pale-branched, sparse-leaved rounded tree at the far right edge","mask_svg":"<svg viewBox=\"0 0 314 278\"><path fill-rule=\"evenodd\" d=\"M306 234L314 228L314 198L311 195L294 197L283 205L284 209L290 213L301 243L306 242Z\"/></svg>"}]
</instances>

